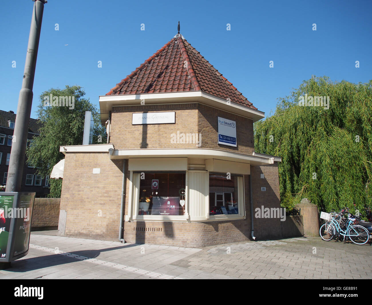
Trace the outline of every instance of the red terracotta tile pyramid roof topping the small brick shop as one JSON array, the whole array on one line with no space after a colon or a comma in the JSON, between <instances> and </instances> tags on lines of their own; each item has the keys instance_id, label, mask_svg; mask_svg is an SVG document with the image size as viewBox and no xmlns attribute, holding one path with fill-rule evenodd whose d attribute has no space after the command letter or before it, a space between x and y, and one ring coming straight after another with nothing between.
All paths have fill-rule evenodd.
<instances>
[{"instance_id":1,"label":"red terracotta tile pyramid roof topping the small brick shop","mask_svg":"<svg viewBox=\"0 0 372 305\"><path fill-rule=\"evenodd\" d=\"M199 90L257 109L181 35L172 38L106 95Z\"/></svg>"}]
</instances>

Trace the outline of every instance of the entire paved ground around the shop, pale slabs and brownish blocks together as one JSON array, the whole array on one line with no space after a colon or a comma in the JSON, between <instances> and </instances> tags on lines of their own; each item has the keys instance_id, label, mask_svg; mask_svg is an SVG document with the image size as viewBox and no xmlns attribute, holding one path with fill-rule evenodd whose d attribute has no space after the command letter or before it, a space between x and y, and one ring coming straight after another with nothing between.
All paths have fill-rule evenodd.
<instances>
[{"instance_id":1,"label":"entire paved ground around the shop, pale slabs and brownish blocks together","mask_svg":"<svg viewBox=\"0 0 372 305\"><path fill-rule=\"evenodd\" d=\"M0 270L0 279L372 278L371 245L320 237L196 249L52 235L32 232L29 254Z\"/></svg>"}]
</instances>

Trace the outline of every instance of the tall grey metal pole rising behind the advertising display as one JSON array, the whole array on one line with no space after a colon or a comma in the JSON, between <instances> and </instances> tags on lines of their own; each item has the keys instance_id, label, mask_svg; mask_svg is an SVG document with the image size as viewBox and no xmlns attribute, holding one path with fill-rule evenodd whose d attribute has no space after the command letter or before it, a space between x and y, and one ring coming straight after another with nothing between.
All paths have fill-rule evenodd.
<instances>
[{"instance_id":1,"label":"tall grey metal pole rising behind the advertising display","mask_svg":"<svg viewBox=\"0 0 372 305\"><path fill-rule=\"evenodd\" d=\"M35 76L36 58L38 55L41 21L46 0L32 0L33 5L30 36L28 38L25 72L23 73L22 89L19 92L17 116L14 126L12 150L6 192L19 192L22 187L22 174L25 164L28 128L30 123L33 79Z\"/></svg>"}]
</instances>

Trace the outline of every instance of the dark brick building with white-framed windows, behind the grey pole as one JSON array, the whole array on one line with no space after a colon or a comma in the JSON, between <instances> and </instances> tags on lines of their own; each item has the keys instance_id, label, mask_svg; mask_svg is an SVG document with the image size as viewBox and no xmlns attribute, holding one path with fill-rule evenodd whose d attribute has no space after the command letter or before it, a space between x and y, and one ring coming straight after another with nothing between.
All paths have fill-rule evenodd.
<instances>
[{"instance_id":1,"label":"dark brick building with white-framed windows, behind the grey pole","mask_svg":"<svg viewBox=\"0 0 372 305\"><path fill-rule=\"evenodd\" d=\"M13 111L0 110L0 184L6 185L10 150L14 133L16 114ZM30 118L27 136L27 145L32 143L32 138L39 136L40 123L38 120ZM29 166L27 158L23 166L22 192L36 192L36 197L47 197L49 194L49 179L36 175L36 169Z\"/></svg>"}]
</instances>

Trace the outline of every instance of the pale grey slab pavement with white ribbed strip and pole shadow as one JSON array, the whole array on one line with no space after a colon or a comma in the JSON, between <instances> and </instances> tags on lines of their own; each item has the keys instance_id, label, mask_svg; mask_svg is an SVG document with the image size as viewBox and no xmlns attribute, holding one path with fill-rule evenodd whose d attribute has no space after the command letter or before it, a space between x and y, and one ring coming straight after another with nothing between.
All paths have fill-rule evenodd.
<instances>
[{"instance_id":1,"label":"pale grey slab pavement with white ribbed strip and pole shadow","mask_svg":"<svg viewBox=\"0 0 372 305\"><path fill-rule=\"evenodd\" d=\"M55 232L51 232L55 235ZM195 248L31 234L30 249L0 279L228 279L230 276L171 265Z\"/></svg>"}]
</instances>

